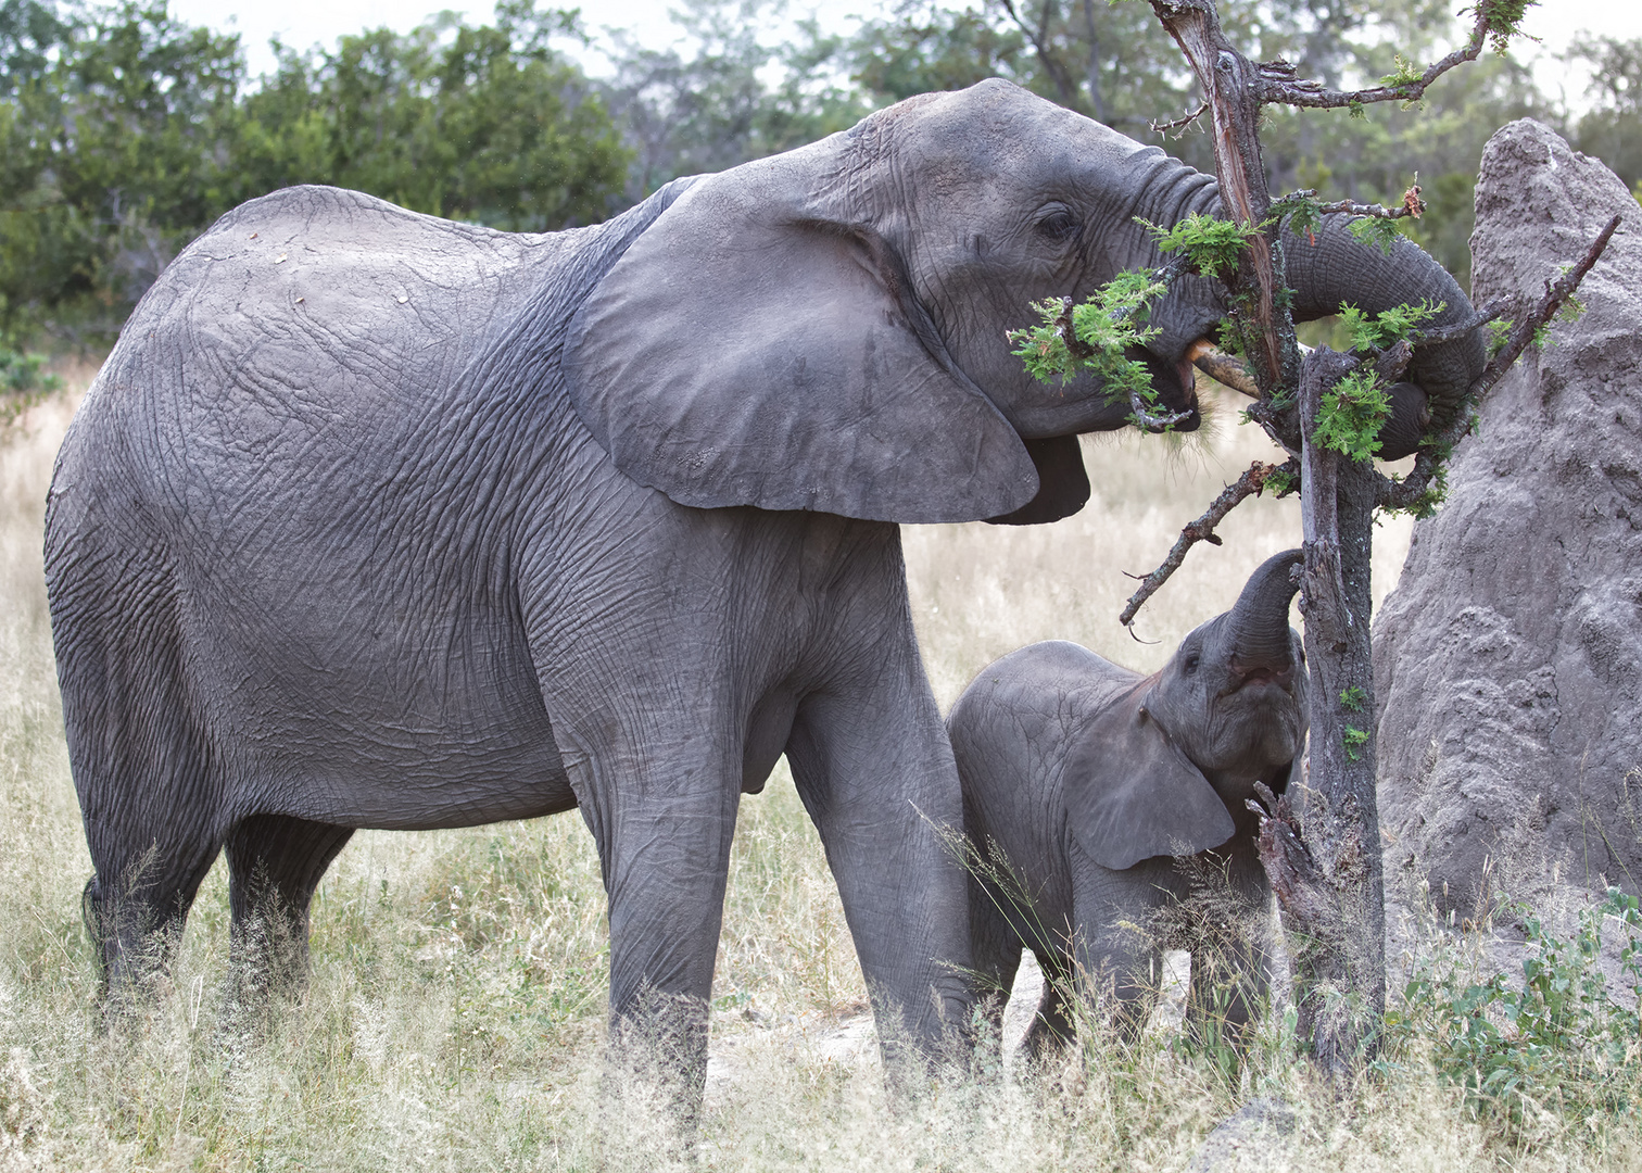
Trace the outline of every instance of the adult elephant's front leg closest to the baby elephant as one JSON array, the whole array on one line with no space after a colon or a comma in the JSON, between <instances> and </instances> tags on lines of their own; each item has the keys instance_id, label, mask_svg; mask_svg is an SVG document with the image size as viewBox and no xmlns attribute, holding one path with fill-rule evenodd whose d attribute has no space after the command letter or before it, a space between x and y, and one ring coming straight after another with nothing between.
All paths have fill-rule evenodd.
<instances>
[{"instance_id":1,"label":"adult elephant's front leg closest to the baby elephant","mask_svg":"<svg viewBox=\"0 0 1642 1173\"><path fill-rule=\"evenodd\" d=\"M921 670L882 680L806 698L787 756L837 881L885 1066L905 1078L967 1046L969 908L946 726Z\"/></svg>"}]
</instances>

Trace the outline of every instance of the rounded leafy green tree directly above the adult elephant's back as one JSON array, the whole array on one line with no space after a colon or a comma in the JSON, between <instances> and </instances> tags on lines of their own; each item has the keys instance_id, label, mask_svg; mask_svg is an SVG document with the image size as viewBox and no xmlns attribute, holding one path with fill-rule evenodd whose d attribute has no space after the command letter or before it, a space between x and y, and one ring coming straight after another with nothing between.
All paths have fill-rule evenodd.
<instances>
[{"instance_id":1,"label":"rounded leafy green tree directly above the adult elephant's back","mask_svg":"<svg viewBox=\"0 0 1642 1173\"><path fill-rule=\"evenodd\" d=\"M279 49L243 104L235 161L250 197L296 182L381 196L514 232L601 220L627 153L581 71L552 48L573 13L502 0L493 26L442 13L410 33Z\"/></svg>"}]
</instances>

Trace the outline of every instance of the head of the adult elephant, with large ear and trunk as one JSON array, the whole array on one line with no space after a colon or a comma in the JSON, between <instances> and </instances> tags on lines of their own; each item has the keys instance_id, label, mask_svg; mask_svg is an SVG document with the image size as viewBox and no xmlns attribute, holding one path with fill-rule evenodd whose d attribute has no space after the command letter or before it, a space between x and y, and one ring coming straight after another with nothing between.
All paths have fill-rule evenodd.
<instances>
[{"instance_id":1,"label":"head of the adult elephant, with large ear and trunk","mask_svg":"<svg viewBox=\"0 0 1642 1173\"><path fill-rule=\"evenodd\" d=\"M1136 217L1218 202L1210 176L1002 80L908 99L670 199L570 322L581 421L681 504L903 522L1082 508L1076 435L1121 427L1130 406L1090 376L1034 381L1005 334L1031 302L1161 264ZM1319 242L1296 245L1315 253L1294 266L1302 312L1427 292L1470 312L1412 245L1387 258L1332 225ZM1222 302L1217 283L1182 279L1136 355L1182 427L1187 355Z\"/></svg>"}]
</instances>

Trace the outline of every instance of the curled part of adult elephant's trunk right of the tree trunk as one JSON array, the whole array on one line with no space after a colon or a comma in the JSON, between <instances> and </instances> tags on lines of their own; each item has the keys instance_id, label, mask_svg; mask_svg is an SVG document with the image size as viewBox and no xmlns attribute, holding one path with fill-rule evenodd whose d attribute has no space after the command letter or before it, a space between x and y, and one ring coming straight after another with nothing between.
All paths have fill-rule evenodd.
<instances>
[{"instance_id":1,"label":"curled part of adult elephant's trunk right of the tree trunk","mask_svg":"<svg viewBox=\"0 0 1642 1173\"><path fill-rule=\"evenodd\" d=\"M1309 322L1356 306L1381 314L1394 306L1429 302L1442 309L1427 329L1456 325L1475 315L1471 299L1447 269L1412 240L1399 240L1389 253L1365 245L1350 233L1350 217L1325 217L1315 233L1284 235L1294 317ZM1453 419L1488 355L1481 327L1425 347L1417 347L1407 378L1392 393L1392 421L1381 432L1381 455L1409 455L1420 435ZM1417 384L1417 386L1415 386Z\"/></svg>"}]
</instances>

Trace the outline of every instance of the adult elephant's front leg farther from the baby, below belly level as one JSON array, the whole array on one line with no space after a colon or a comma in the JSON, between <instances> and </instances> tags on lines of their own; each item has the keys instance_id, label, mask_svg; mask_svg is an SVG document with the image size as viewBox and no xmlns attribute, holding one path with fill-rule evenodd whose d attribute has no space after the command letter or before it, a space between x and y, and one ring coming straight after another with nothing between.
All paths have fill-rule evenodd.
<instances>
[{"instance_id":1,"label":"adult elephant's front leg farther from the baby, below belly level","mask_svg":"<svg viewBox=\"0 0 1642 1173\"><path fill-rule=\"evenodd\" d=\"M614 1078L658 1083L688 1127L706 1086L739 792L727 770L680 774L706 785L645 779L635 766L622 785L586 787L580 805L609 897Z\"/></svg>"}]
</instances>

